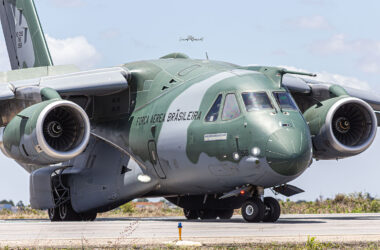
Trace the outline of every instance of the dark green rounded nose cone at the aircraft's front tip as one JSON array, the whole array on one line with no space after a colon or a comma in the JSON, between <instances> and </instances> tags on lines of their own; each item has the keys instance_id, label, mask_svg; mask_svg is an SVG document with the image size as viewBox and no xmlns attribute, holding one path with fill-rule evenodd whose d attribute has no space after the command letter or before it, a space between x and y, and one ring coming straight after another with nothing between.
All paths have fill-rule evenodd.
<instances>
[{"instance_id":1,"label":"dark green rounded nose cone at the aircraft's front tip","mask_svg":"<svg viewBox=\"0 0 380 250\"><path fill-rule=\"evenodd\" d=\"M309 133L306 129L276 131L268 139L266 157L270 167L281 175L303 172L312 157Z\"/></svg>"}]
</instances>

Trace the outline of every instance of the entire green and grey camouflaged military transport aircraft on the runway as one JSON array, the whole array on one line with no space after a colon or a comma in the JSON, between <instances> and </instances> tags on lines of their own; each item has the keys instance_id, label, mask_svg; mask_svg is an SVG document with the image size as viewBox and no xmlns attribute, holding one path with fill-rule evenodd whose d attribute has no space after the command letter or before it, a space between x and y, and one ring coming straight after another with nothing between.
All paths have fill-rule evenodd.
<instances>
[{"instance_id":1,"label":"entire green and grey camouflaged military transport aircraft on the runway","mask_svg":"<svg viewBox=\"0 0 380 250\"><path fill-rule=\"evenodd\" d=\"M52 221L94 220L138 197L188 219L275 222L312 159L373 142L380 98L278 67L173 53L80 71L53 66L32 0L1 0L12 71L0 73L1 149Z\"/></svg>"}]
</instances>

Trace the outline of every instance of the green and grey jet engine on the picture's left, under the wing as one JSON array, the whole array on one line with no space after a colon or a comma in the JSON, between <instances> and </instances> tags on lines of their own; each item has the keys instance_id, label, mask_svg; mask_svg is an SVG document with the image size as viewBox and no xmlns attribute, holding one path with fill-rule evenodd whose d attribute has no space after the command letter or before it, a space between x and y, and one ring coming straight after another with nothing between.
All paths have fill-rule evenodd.
<instances>
[{"instance_id":1,"label":"green and grey jet engine on the picture's left, under the wing","mask_svg":"<svg viewBox=\"0 0 380 250\"><path fill-rule=\"evenodd\" d=\"M86 112L66 100L49 100L21 111L5 127L3 149L24 164L68 161L86 148L90 122Z\"/></svg>"}]
</instances>

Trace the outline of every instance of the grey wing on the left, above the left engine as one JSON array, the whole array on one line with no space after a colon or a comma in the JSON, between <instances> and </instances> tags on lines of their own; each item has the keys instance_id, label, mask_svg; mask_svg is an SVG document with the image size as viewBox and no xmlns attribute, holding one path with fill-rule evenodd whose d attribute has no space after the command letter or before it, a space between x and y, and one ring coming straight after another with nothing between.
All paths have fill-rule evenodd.
<instances>
[{"instance_id":1,"label":"grey wing on the left, above the left engine","mask_svg":"<svg viewBox=\"0 0 380 250\"><path fill-rule=\"evenodd\" d=\"M0 73L0 127L5 126L24 108L41 102L40 92L43 88L54 89L61 97L70 99L76 96L112 95L129 87L130 73L123 67L59 75L49 73L62 71L59 70L60 67L62 68L62 66L49 66ZM39 74L40 76L36 77ZM26 77L30 78L23 79Z\"/></svg>"}]
</instances>

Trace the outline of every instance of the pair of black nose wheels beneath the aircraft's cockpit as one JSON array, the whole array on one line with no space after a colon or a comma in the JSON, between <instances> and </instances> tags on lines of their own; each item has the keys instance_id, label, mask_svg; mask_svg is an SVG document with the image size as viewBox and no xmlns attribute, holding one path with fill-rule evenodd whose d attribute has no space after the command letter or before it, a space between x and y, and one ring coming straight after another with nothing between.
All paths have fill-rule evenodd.
<instances>
[{"instance_id":1,"label":"pair of black nose wheels beneath the aircraft's cockpit","mask_svg":"<svg viewBox=\"0 0 380 250\"><path fill-rule=\"evenodd\" d=\"M264 202L257 198L248 199L241 207L241 214L248 222L276 222L281 214L280 204L275 198L265 197Z\"/></svg>"}]
</instances>

